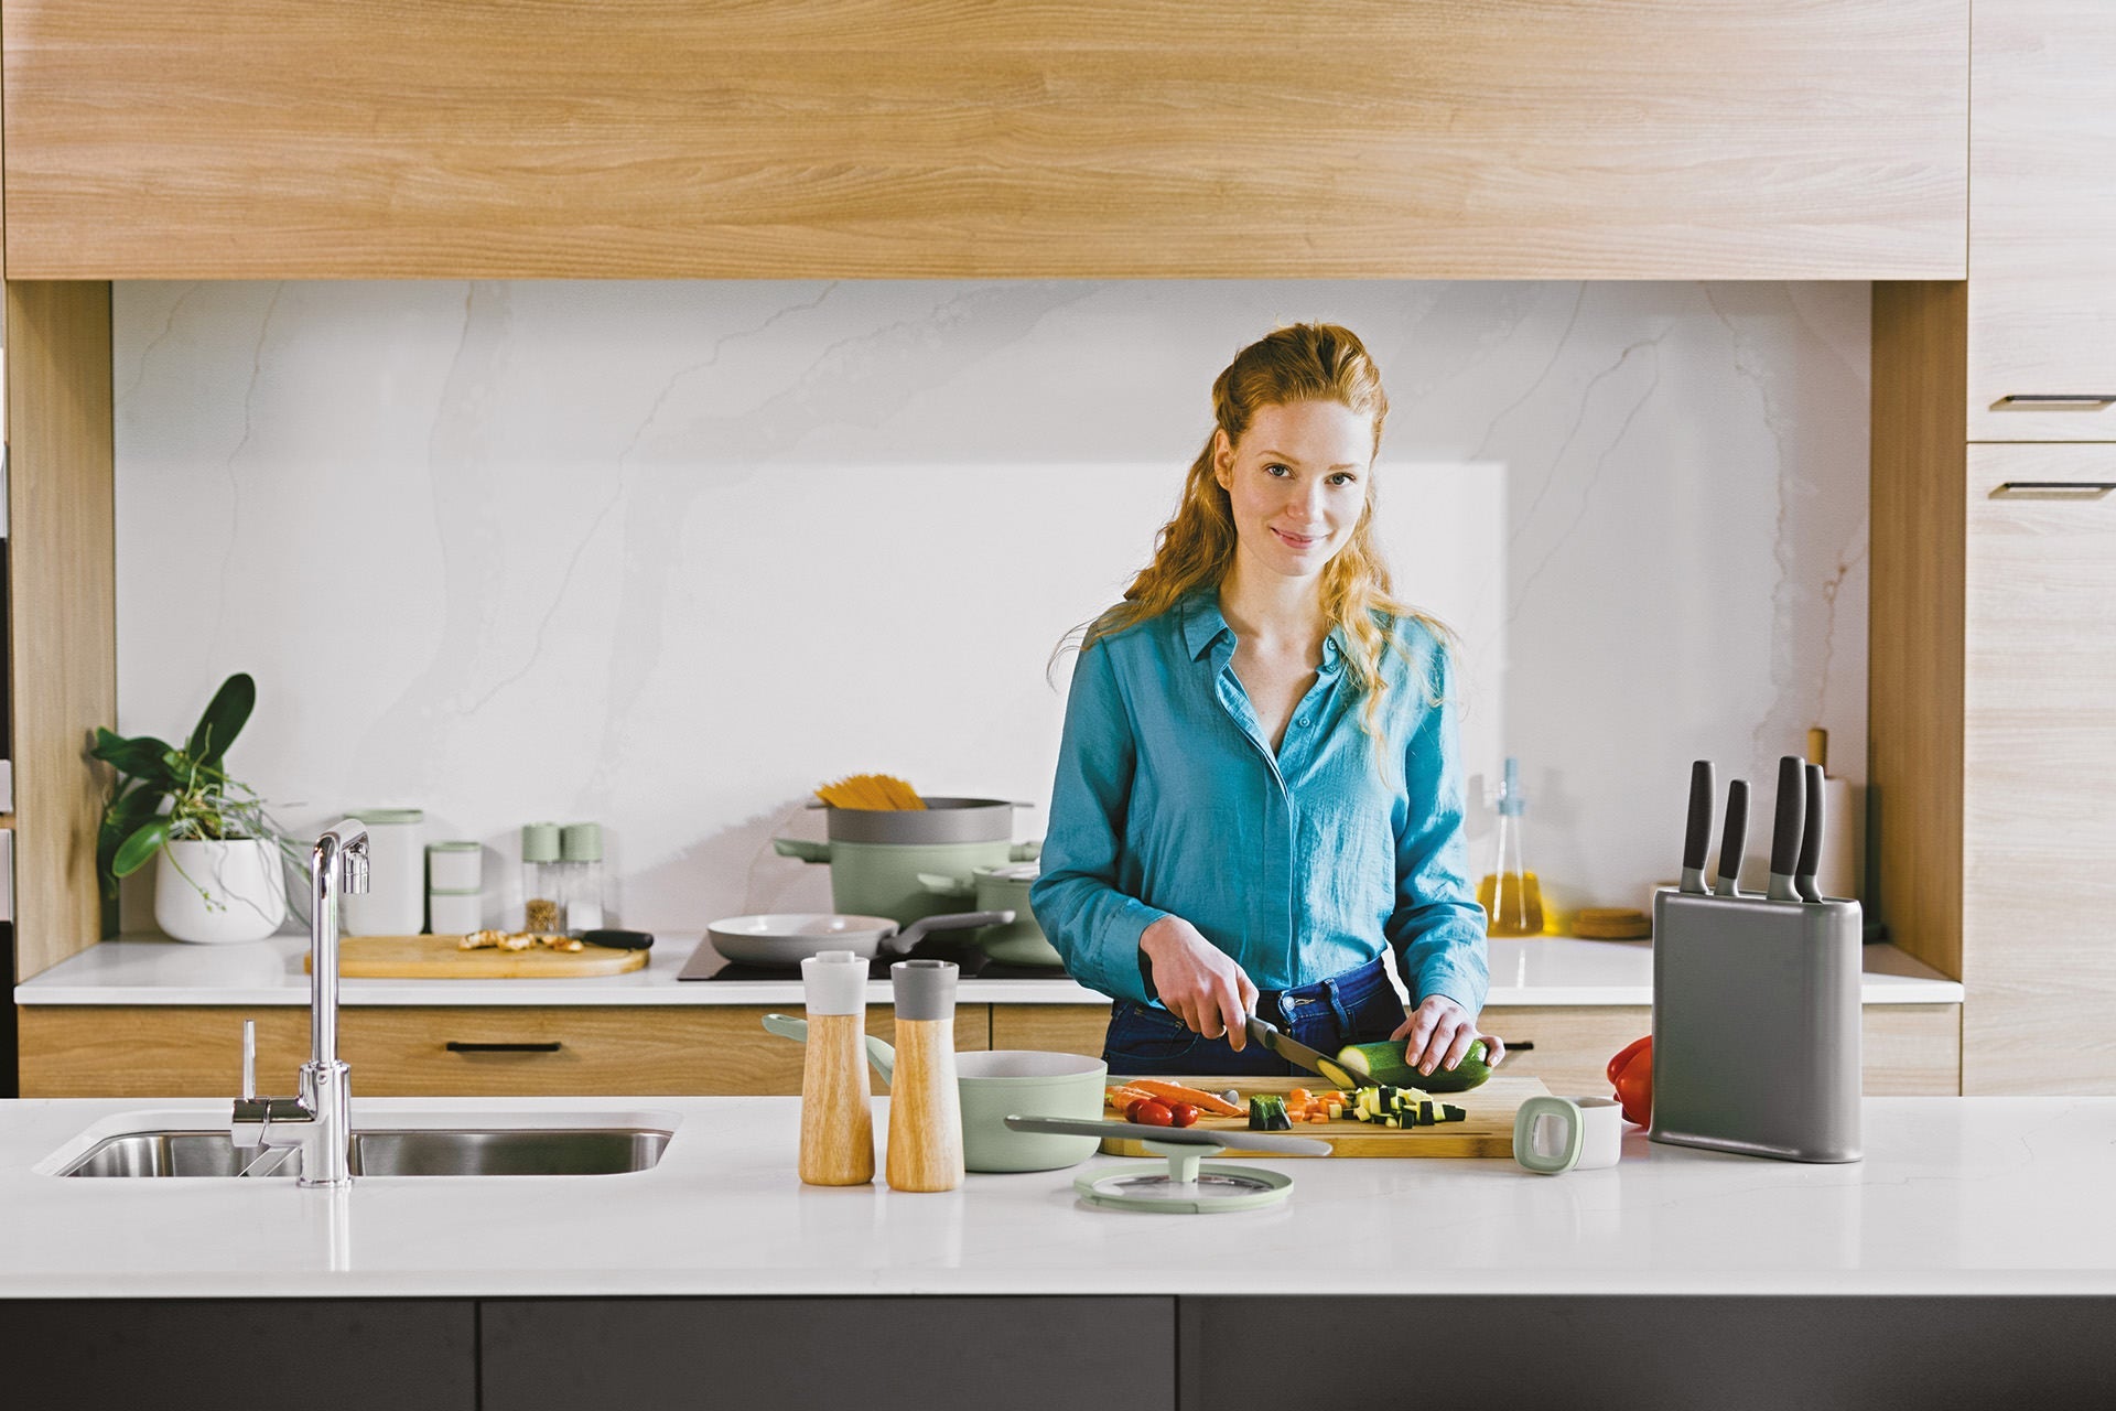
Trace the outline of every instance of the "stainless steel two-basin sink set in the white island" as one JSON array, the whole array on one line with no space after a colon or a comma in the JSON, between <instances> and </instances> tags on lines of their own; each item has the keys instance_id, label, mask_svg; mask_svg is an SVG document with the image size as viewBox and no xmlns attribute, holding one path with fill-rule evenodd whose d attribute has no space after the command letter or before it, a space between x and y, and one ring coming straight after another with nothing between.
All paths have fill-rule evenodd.
<instances>
[{"instance_id":1,"label":"stainless steel two-basin sink set in the white island","mask_svg":"<svg viewBox=\"0 0 2116 1411\"><path fill-rule=\"evenodd\" d=\"M355 1130L355 1176L612 1176L660 1161L669 1132L656 1128L408 1128ZM260 1161L262 1157L262 1161ZM108 1136L61 1176L252 1176L300 1172L300 1151L237 1147L226 1132L123 1132Z\"/></svg>"}]
</instances>

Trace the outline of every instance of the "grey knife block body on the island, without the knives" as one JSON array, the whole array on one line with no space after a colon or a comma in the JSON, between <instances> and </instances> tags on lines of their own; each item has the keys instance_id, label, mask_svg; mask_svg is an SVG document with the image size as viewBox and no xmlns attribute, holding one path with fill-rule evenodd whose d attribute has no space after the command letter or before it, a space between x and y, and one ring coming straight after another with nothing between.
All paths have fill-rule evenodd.
<instances>
[{"instance_id":1,"label":"grey knife block body on the island, without the knives","mask_svg":"<svg viewBox=\"0 0 2116 1411\"><path fill-rule=\"evenodd\" d=\"M1858 901L1653 897L1657 1142L1860 1159Z\"/></svg>"}]
</instances>

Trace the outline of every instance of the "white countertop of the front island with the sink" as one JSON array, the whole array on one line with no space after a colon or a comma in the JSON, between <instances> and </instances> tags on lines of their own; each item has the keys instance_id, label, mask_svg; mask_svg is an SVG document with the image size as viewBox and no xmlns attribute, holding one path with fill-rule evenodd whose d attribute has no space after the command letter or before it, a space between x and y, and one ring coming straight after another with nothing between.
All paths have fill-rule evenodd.
<instances>
[{"instance_id":1,"label":"white countertop of the front island with the sink","mask_svg":"<svg viewBox=\"0 0 2116 1411\"><path fill-rule=\"evenodd\" d=\"M804 1187L796 1098L353 1102L368 1125L565 1113L675 1136L637 1174L334 1193L34 1170L83 1151L87 1128L224 1130L224 1102L0 1102L0 1297L1225 1295L1248 1288L1242 1267L1289 1295L2116 1295L2116 1098L1868 1098L1866 1159L1849 1166L1638 1130L1615 1168L1555 1178L1276 1157L1289 1204L1206 1225L1081 1206L1077 1172L942 1195ZM1316 1259L1318 1229L1361 1235Z\"/></svg>"}]
</instances>

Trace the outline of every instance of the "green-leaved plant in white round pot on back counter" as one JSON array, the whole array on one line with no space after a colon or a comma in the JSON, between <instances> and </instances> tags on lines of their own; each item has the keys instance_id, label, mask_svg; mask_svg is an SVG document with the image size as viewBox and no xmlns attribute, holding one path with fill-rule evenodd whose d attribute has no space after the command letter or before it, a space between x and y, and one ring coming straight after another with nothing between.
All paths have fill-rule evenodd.
<instances>
[{"instance_id":1,"label":"green-leaved plant in white round pot on back counter","mask_svg":"<svg viewBox=\"0 0 2116 1411\"><path fill-rule=\"evenodd\" d=\"M222 768L256 696L256 681L235 673L182 749L97 730L89 751L118 772L95 838L104 895L154 859L154 924L180 941L258 941L286 920L279 859L292 844L256 789Z\"/></svg>"}]
</instances>

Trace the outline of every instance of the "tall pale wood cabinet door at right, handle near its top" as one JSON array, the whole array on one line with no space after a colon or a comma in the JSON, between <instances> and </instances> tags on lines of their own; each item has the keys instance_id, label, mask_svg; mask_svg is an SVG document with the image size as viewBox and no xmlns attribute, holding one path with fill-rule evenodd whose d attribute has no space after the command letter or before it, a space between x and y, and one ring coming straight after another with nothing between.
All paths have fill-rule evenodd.
<instances>
[{"instance_id":1,"label":"tall pale wood cabinet door at right, handle near its top","mask_svg":"<svg viewBox=\"0 0 2116 1411\"><path fill-rule=\"evenodd\" d=\"M2116 1094L2116 446L1968 463L1962 1092Z\"/></svg>"}]
</instances>

